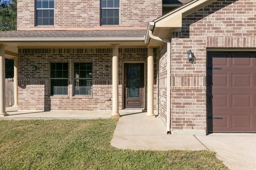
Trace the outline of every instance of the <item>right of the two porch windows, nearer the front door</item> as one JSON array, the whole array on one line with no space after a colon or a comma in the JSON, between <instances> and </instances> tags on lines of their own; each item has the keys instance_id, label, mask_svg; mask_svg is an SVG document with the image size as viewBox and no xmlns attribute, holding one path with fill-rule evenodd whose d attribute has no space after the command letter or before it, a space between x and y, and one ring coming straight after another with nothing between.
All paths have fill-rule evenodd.
<instances>
[{"instance_id":1,"label":"right of the two porch windows, nearer the front door","mask_svg":"<svg viewBox=\"0 0 256 170\"><path fill-rule=\"evenodd\" d=\"M92 95L92 63L74 63L74 95Z\"/></svg>"}]
</instances>

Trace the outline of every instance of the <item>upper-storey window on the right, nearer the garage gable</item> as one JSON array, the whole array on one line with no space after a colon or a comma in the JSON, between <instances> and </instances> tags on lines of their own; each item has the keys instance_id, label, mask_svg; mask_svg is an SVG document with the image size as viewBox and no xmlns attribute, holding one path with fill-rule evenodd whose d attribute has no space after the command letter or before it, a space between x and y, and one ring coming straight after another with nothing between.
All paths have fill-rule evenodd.
<instances>
[{"instance_id":1,"label":"upper-storey window on the right, nearer the garage gable","mask_svg":"<svg viewBox=\"0 0 256 170\"><path fill-rule=\"evenodd\" d=\"M119 24L119 0L101 0L101 25Z\"/></svg>"}]
</instances>

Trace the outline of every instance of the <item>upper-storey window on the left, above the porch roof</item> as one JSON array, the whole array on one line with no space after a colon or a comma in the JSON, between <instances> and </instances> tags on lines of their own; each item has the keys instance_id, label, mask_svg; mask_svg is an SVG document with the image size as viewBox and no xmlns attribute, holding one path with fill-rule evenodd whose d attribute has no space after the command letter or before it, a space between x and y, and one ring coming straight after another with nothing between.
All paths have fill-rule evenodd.
<instances>
[{"instance_id":1,"label":"upper-storey window on the left, above the porch roof","mask_svg":"<svg viewBox=\"0 0 256 170\"><path fill-rule=\"evenodd\" d=\"M36 0L36 25L54 25L54 0Z\"/></svg>"}]
</instances>

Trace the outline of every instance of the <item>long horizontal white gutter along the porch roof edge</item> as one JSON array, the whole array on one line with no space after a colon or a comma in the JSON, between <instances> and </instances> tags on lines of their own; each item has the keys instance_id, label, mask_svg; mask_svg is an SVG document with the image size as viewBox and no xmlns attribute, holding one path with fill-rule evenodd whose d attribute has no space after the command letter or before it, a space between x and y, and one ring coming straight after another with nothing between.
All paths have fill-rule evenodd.
<instances>
[{"instance_id":1,"label":"long horizontal white gutter along the porch roof edge","mask_svg":"<svg viewBox=\"0 0 256 170\"><path fill-rule=\"evenodd\" d=\"M97 38L0 38L0 41L144 41L145 37L97 37Z\"/></svg>"}]
</instances>

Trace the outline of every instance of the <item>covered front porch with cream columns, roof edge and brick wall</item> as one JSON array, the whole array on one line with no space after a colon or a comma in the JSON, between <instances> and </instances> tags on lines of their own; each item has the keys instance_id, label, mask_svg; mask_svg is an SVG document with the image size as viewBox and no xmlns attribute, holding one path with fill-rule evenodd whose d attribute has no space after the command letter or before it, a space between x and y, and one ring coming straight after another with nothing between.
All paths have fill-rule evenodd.
<instances>
[{"instance_id":1,"label":"covered front porch with cream columns, roof edge and brick wall","mask_svg":"<svg viewBox=\"0 0 256 170\"><path fill-rule=\"evenodd\" d=\"M73 34L68 36L67 32L72 31L56 31L54 35L49 31L42 31L39 37L36 34L39 31L30 31L29 35L24 35L24 31L13 31L10 35L1 36L5 38L1 38L0 47L0 116L15 117L14 112L8 112L5 108L4 95L4 59L11 58L14 60L14 98L17 107L13 108L18 108L16 115L30 114L24 112L25 110L36 110L39 113L62 110L67 113L89 111L90 114L101 110L106 114L103 117L108 117L109 112L110 117L119 117L122 112L130 110L126 108L125 103L127 95L124 77L125 65L133 63L132 65L143 64L144 73L141 74L144 74L144 78L141 79L143 87L140 87L140 91L143 91L143 97L140 97L141 105L138 108L134 105L132 109L146 111L145 116L155 117L154 48L145 45L145 30L110 31L109 37L103 37L102 32L97 32L99 37L95 37L93 33L89 35L88 31L85 31L87 34L84 37L78 34L81 31L73 31ZM52 62L68 63L67 95L51 94ZM93 65L90 95L74 94L73 71L76 62L91 62Z\"/></svg>"}]
</instances>

